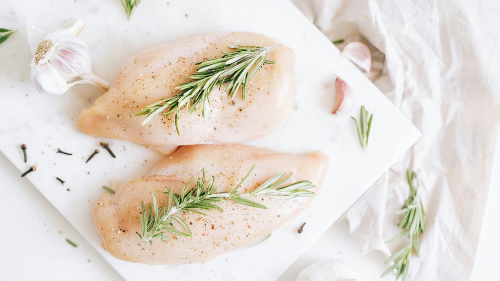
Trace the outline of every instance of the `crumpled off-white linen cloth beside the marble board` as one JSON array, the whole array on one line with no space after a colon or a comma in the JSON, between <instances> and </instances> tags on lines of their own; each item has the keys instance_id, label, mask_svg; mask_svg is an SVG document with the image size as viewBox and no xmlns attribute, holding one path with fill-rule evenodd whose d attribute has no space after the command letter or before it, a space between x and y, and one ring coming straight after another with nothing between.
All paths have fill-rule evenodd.
<instances>
[{"instance_id":1,"label":"crumpled off-white linen cloth beside the marble board","mask_svg":"<svg viewBox=\"0 0 500 281\"><path fill-rule=\"evenodd\" d=\"M344 214L361 251L390 254L405 243L384 241L400 231L394 212L408 196L410 168L420 182L426 229L407 280L469 279L500 124L500 3L292 2L331 40L362 35L385 54L374 83L422 133Z\"/></svg>"}]
</instances>

